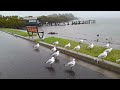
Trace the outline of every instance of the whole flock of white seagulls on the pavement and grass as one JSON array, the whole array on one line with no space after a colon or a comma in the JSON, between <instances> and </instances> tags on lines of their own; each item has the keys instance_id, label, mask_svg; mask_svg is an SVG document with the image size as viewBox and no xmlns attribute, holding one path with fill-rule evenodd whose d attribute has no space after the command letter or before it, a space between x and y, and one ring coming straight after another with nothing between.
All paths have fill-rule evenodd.
<instances>
[{"instance_id":1,"label":"whole flock of white seagulls on the pavement and grass","mask_svg":"<svg viewBox=\"0 0 120 90\"><path fill-rule=\"evenodd\" d=\"M83 43L83 42L84 42L84 40L80 40L80 41L79 41L79 43ZM51 58L45 62L45 63L47 63L47 64L50 64L51 66L52 66L52 64L55 62L55 59L56 59L56 58L59 56L59 54L60 54L60 52L59 52L59 51L57 50L57 48L56 48L57 45L59 44L59 42L56 41L56 42L54 42L53 44L55 45L55 46L51 49L51 51L53 52L53 54L51 54ZM34 48L37 49L37 48L39 48L39 46L40 46L40 45L39 45L39 43L38 43L38 44L36 44L36 45L34 46ZM68 44L65 45L64 47L65 47L65 48L70 48L70 47L71 47L71 44L68 43ZM102 61L103 61L103 58L107 57L108 53L110 53L110 52L112 51L112 49L113 49L113 48L109 48L109 47L110 47L110 44L109 44L109 43L107 43L107 44L104 45L103 47L105 47L106 50L104 50L101 54L98 55L98 58L102 59ZM90 49L94 48L94 44L92 43L92 44L88 45L87 48L90 48ZM76 50L76 51L80 50L80 45L74 47L73 50ZM97 63L99 62L99 59L95 59L95 60L97 61ZM116 60L116 62L120 62L120 59L119 59L119 60ZM73 60L70 61L70 62L68 62L67 64L65 64L65 66L69 66L69 67L72 68L75 64L76 64L76 62L75 62L75 59L73 58Z\"/></svg>"}]
</instances>

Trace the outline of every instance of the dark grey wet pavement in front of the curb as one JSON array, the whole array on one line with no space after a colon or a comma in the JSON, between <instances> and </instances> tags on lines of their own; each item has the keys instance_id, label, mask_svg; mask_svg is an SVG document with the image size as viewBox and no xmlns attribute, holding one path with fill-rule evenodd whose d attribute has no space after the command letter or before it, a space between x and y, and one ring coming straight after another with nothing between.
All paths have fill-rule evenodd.
<instances>
[{"instance_id":1,"label":"dark grey wet pavement in front of the curb","mask_svg":"<svg viewBox=\"0 0 120 90\"><path fill-rule=\"evenodd\" d=\"M109 79L109 75L92 70L77 60L71 70L64 67L72 57L61 54L51 67L45 62L51 51L43 46L33 49L33 42L0 32L1 79Z\"/></svg>"}]
</instances>

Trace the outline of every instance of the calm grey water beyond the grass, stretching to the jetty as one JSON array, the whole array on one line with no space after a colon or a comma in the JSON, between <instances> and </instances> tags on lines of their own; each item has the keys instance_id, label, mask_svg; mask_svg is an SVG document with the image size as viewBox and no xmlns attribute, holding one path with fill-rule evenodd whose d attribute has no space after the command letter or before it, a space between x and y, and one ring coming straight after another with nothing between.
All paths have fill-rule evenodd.
<instances>
[{"instance_id":1,"label":"calm grey water beyond the grass, stretching to the jetty","mask_svg":"<svg viewBox=\"0 0 120 90\"><path fill-rule=\"evenodd\" d=\"M90 44L103 46L107 42L111 42L110 47L120 49L120 18L99 18L95 19L96 24L84 25L66 25L66 26L44 26L45 37L56 36L66 39L79 41L85 39ZM57 32L56 35L49 35L49 32ZM100 36L97 37L97 34ZM99 38L99 42L95 40Z\"/></svg>"}]
</instances>

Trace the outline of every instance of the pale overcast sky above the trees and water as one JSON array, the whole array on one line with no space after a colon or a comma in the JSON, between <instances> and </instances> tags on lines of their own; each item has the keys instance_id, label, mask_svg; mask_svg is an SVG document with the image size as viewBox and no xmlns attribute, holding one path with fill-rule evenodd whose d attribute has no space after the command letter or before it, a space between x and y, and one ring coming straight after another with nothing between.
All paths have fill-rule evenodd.
<instances>
[{"instance_id":1,"label":"pale overcast sky above the trees and water","mask_svg":"<svg viewBox=\"0 0 120 90\"><path fill-rule=\"evenodd\" d=\"M120 11L0 11L1 15L11 16L41 16L49 14L63 14L63 13L72 13L76 17L82 18L97 18L97 17L114 17L120 18Z\"/></svg>"}]
</instances>

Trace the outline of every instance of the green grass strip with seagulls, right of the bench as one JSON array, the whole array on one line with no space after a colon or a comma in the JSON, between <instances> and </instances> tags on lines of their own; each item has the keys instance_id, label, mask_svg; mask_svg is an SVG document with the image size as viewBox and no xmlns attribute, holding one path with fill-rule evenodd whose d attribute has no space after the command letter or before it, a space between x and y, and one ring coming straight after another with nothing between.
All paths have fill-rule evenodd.
<instances>
[{"instance_id":1,"label":"green grass strip with seagulls, right of the bench","mask_svg":"<svg viewBox=\"0 0 120 90\"><path fill-rule=\"evenodd\" d=\"M34 42L39 42L40 39L36 39ZM71 47L69 50L72 50L75 46L80 45L81 48L78 52L83 53L83 54L87 54L90 56L94 56L97 57L100 53L102 53L106 48L101 47L101 46L94 46L93 49L87 49L88 44L79 44L78 42L72 41L72 40L67 40L67 39L62 39L62 38L57 38L57 37L48 37L45 38L44 40L41 40L42 42L46 42L49 44L53 44L53 42L55 41L59 41L59 45L60 47L64 47L66 44L71 43ZM120 59L120 50L116 50L113 49L106 58L104 58L104 60L108 60L111 62L115 62L116 60ZM118 63L120 64L120 63Z\"/></svg>"}]
</instances>

